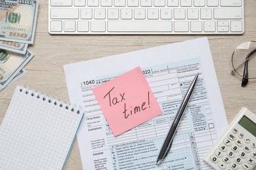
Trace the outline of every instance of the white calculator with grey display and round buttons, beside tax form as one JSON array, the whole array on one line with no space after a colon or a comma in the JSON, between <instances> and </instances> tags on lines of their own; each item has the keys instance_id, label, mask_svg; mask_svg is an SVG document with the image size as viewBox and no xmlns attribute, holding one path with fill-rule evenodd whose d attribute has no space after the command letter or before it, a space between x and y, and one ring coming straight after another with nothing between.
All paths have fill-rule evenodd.
<instances>
[{"instance_id":1,"label":"white calculator with grey display and round buttons, beside tax form","mask_svg":"<svg viewBox=\"0 0 256 170\"><path fill-rule=\"evenodd\" d=\"M255 169L256 115L242 107L203 160L215 169Z\"/></svg>"}]
</instances>

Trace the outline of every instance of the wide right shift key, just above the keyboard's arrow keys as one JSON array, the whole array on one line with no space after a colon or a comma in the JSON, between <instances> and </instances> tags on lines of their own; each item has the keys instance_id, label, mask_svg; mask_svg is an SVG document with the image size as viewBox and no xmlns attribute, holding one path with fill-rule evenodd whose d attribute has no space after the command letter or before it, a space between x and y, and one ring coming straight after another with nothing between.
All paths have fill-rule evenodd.
<instances>
[{"instance_id":1,"label":"wide right shift key, just above the keyboard's arrow keys","mask_svg":"<svg viewBox=\"0 0 256 170\"><path fill-rule=\"evenodd\" d=\"M214 18L215 19L241 19L242 18L242 9L238 8L221 8L214 9Z\"/></svg>"}]
</instances>

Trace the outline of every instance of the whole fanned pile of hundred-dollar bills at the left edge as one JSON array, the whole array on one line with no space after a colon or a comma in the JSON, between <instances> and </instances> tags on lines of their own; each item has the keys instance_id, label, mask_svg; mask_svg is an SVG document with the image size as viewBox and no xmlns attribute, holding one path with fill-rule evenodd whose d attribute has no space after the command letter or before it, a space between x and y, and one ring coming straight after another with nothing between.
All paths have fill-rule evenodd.
<instances>
[{"instance_id":1,"label":"whole fanned pile of hundred-dollar bills at the left edge","mask_svg":"<svg viewBox=\"0 0 256 170\"><path fill-rule=\"evenodd\" d=\"M0 0L0 91L26 74L37 11L35 0Z\"/></svg>"}]
</instances>

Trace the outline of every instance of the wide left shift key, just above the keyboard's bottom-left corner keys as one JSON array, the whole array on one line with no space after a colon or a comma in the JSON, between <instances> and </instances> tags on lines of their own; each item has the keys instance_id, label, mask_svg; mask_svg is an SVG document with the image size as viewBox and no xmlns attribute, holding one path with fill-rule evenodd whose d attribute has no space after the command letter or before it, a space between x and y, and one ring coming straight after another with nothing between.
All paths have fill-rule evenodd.
<instances>
[{"instance_id":1,"label":"wide left shift key, just above the keyboard's bottom-left corner keys","mask_svg":"<svg viewBox=\"0 0 256 170\"><path fill-rule=\"evenodd\" d=\"M79 9L51 9L52 19L78 19Z\"/></svg>"}]
</instances>

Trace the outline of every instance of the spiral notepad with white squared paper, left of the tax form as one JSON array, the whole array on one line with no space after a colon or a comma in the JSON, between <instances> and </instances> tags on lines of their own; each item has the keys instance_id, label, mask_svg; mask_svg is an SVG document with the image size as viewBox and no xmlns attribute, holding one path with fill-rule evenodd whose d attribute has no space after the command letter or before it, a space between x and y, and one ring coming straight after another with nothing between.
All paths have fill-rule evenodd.
<instances>
[{"instance_id":1,"label":"spiral notepad with white squared paper, left of the tax form","mask_svg":"<svg viewBox=\"0 0 256 170\"><path fill-rule=\"evenodd\" d=\"M0 127L0 169L63 169L81 110L17 86Z\"/></svg>"}]
</instances>

